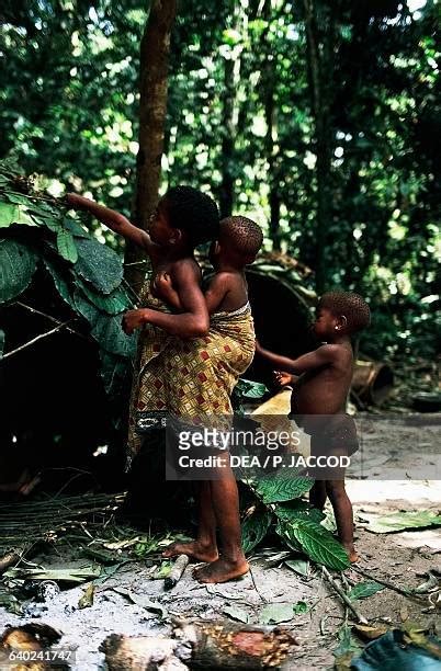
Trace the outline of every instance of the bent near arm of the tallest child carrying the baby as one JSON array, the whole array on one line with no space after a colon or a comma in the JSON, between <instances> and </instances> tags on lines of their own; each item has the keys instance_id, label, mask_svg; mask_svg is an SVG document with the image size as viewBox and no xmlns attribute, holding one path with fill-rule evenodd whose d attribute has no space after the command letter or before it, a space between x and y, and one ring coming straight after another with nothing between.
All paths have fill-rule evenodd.
<instances>
[{"instance_id":1,"label":"bent near arm of the tallest child carrying the baby","mask_svg":"<svg viewBox=\"0 0 441 671\"><path fill-rule=\"evenodd\" d=\"M129 310L123 319L126 333L132 333L145 323L157 326L179 338L200 338L208 333L208 312L199 286L197 269L188 263L178 264L173 280L184 311L181 315L170 315L150 308Z\"/></svg>"}]
</instances>

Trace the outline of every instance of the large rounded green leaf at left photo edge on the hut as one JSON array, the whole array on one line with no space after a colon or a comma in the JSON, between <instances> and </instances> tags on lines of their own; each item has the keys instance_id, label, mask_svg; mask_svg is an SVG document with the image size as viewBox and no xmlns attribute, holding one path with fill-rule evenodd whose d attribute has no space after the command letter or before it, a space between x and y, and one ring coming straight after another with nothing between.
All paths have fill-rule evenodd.
<instances>
[{"instance_id":1,"label":"large rounded green leaf at left photo edge on the hut","mask_svg":"<svg viewBox=\"0 0 441 671\"><path fill-rule=\"evenodd\" d=\"M35 252L16 240L0 240L0 303L19 296L31 283Z\"/></svg>"}]
</instances>

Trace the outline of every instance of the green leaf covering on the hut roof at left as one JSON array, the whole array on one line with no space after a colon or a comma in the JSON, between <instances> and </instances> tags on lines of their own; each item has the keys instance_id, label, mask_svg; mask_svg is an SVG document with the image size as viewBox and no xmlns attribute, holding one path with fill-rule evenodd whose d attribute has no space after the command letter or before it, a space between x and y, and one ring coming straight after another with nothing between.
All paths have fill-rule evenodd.
<instances>
[{"instance_id":1,"label":"green leaf covering on the hut roof at left","mask_svg":"<svg viewBox=\"0 0 441 671\"><path fill-rule=\"evenodd\" d=\"M0 239L0 304L19 298L32 284L38 265L72 317L89 322L100 351L104 388L115 401L126 386L136 349L136 338L122 330L122 317L133 303L123 285L121 258L67 217L61 202L45 202L31 184L26 186L29 194L16 193L24 178L18 180L16 172L4 163L0 163L0 174L4 231ZM33 228L23 231L21 224Z\"/></svg>"}]
</instances>

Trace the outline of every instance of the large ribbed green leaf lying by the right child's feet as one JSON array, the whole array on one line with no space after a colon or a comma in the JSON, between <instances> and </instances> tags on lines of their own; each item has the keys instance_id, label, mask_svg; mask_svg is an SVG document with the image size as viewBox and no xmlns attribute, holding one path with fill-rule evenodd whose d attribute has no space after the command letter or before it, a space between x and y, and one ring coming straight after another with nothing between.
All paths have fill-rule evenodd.
<instances>
[{"instance_id":1,"label":"large ribbed green leaf lying by the right child's feet","mask_svg":"<svg viewBox=\"0 0 441 671\"><path fill-rule=\"evenodd\" d=\"M297 520L284 525L285 537L293 538L317 564L342 571L350 566L348 555L340 543L319 524L309 520Z\"/></svg>"}]
</instances>

